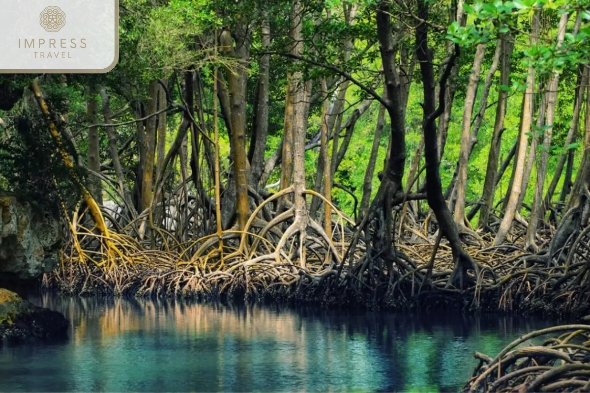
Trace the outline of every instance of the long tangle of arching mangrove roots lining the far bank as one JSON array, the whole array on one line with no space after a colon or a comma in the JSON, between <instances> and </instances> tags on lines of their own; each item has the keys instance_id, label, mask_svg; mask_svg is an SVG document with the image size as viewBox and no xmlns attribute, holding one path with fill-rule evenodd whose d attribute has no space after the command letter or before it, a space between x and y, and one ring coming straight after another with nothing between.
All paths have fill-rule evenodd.
<instances>
[{"instance_id":1,"label":"long tangle of arching mangrove roots lining the far bank","mask_svg":"<svg viewBox=\"0 0 590 393\"><path fill-rule=\"evenodd\" d=\"M141 216L120 225L119 233L104 242L96 229L81 224L84 215L77 212L68 219L72 236L61 266L44 283L65 293L115 296L270 297L339 307L562 315L587 311L590 227L559 249L537 254L526 251L518 228L513 242L501 246L486 246L491 236L482 236L477 245L464 246L481 268L477 276L470 271L460 289L449 285L450 246L431 235L426 222L402 231L391 255L384 257L366 246L372 226L355 232L352 220L332 204L329 231L314 220L301 228L289 206L267 214L270 204L292 192L283 190L261 203L242 231L229 229L185 243L153 225L140 240ZM314 191L306 193L327 202ZM306 236L300 236L302 231Z\"/></svg>"}]
</instances>

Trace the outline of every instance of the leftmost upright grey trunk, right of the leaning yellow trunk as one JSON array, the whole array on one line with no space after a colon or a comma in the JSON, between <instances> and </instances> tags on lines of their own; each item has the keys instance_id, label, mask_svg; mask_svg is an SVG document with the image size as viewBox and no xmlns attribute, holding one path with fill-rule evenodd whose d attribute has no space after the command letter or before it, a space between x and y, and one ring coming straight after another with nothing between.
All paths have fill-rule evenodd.
<instances>
[{"instance_id":1,"label":"leftmost upright grey trunk, right of the leaning yellow trunk","mask_svg":"<svg viewBox=\"0 0 590 393\"><path fill-rule=\"evenodd\" d=\"M90 124L96 124L98 103L96 101L96 88L91 87L86 97L86 115ZM91 126L88 129L88 169L100 174L100 138L99 127ZM98 177L90 174L88 189L98 204L103 203L103 189Z\"/></svg>"}]
</instances>

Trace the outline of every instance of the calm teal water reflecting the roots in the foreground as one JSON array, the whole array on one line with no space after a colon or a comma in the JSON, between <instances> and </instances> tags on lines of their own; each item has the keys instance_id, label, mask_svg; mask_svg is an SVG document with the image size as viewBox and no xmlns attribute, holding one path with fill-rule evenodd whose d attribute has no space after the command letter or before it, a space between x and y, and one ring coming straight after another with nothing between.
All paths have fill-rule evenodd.
<instances>
[{"instance_id":1,"label":"calm teal water reflecting the roots in the foreground","mask_svg":"<svg viewBox=\"0 0 590 393\"><path fill-rule=\"evenodd\" d=\"M549 321L149 300L31 299L61 344L0 348L0 391L458 391L477 362Z\"/></svg>"}]
</instances>

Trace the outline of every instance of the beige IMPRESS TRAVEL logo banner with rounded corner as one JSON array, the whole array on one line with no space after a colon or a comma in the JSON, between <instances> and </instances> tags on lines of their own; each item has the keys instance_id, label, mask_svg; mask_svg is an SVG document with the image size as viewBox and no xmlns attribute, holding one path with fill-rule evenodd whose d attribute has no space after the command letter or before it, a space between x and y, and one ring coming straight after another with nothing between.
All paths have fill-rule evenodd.
<instances>
[{"instance_id":1,"label":"beige IMPRESS TRAVEL logo banner with rounded corner","mask_svg":"<svg viewBox=\"0 0 590 393\"><path fill-rule=\"evenodd\" d=\"M103 73L119 60L119 0L0 0L0 73Z\"/></svg>"}]
</instances>

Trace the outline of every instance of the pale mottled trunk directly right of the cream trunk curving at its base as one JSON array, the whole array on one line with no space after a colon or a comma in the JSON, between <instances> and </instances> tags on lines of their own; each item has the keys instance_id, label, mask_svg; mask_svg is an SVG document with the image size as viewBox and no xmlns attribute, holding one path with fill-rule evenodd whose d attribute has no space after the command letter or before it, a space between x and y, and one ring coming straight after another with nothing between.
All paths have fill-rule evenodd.
<instances>
[{"instance_id":1,"label":"pale mottled trunk directly right of the cream trunk curving at its base","mask_svg":"<svg viewBox=\"0 0 590 393\"><path fill-rule=\"evenodd\" d=\"M565 10L564 10L565 11ZM559 19L557 47L561 47L563 39L565 38L565 30L568 24L569 14L563 12ZM547 99L547 113L545 119L545 138L543 138L543 151L541 152L541 159L539 168L537 169L537 181L535 183L535 199L533 200L533 210L530 212L529 226L526 230L526 247L530 250L536 251L535 235L539 220L545 216L543 210L543 186L545 186L545 177L547 175L547 164L549 162L549 148L551 147L551 138L553 136L553 118L555 117L555 106L557 104L557 94L559 86L559 72L553 70L549 79L548 99Z\"/></svg>"}]
</instances>

